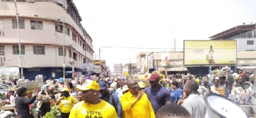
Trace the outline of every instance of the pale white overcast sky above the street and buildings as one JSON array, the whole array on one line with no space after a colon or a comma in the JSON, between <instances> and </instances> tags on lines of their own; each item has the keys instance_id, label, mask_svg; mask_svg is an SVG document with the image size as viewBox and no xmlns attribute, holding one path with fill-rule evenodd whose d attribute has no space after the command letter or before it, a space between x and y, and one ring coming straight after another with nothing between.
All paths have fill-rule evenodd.
<instances>
[{"instance_id":1,"label":"pale white overcast sky above the street and buildings","mask_svg":"<svg viewBox=\"0 0 256 118\"><path fill-rule=\"evenodd\" d=\"M183 40L256 23L256 0L73 0L93 39L94 58L136 63L140 52L182 51Z\"/></svg>"}]
</instances>

